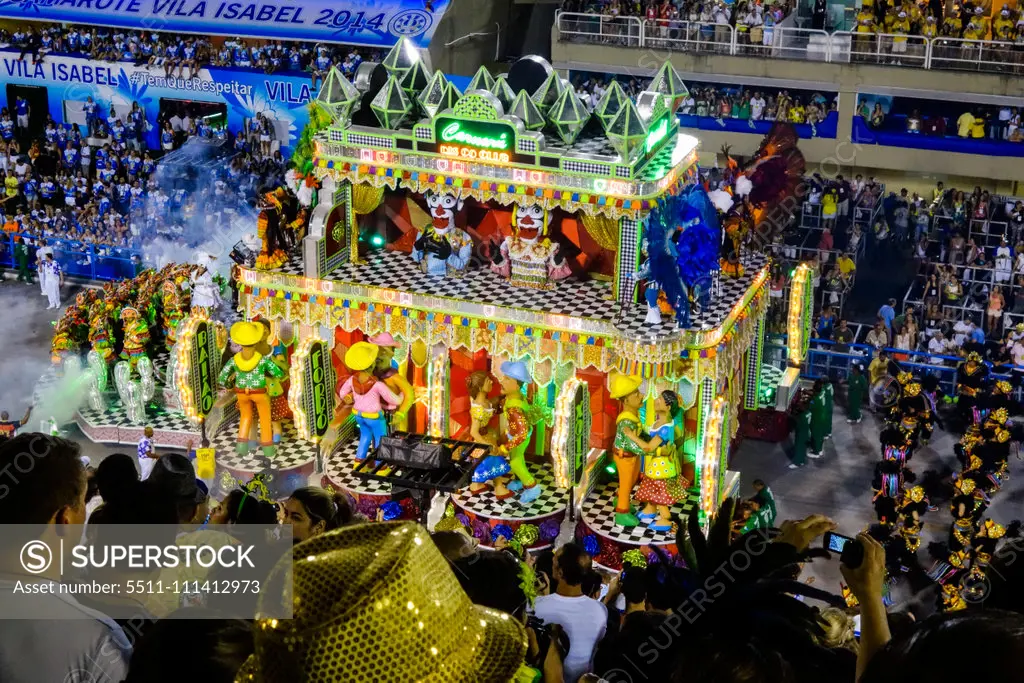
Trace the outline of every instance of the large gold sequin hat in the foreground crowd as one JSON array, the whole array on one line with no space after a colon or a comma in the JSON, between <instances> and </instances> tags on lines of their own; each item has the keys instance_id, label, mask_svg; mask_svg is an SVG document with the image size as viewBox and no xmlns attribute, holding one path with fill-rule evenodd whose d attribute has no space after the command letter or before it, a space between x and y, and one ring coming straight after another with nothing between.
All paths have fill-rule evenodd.
<instances>
[{"instance_id":1,"label":"large gold sequin hat in the foreground crowd","mask_svg":"<svg viewBox=\"0 0 1024 683\"><path fill-rule=\"evenodd\" d=\"M278 618L283 606L291 618ZM313 537L270 572L237 683L511 681L527 649L511 614L474 605L413 522Z\"/></svg>"}]
</instances>

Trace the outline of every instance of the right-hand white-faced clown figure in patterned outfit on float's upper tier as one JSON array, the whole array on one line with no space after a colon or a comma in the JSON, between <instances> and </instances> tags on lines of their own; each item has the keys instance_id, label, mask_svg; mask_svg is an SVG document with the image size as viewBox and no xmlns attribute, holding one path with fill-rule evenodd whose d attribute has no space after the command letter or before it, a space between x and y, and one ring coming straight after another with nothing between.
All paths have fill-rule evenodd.
<instances>
[{"instance_id":1,"label":"right-hand white-faced clown figure in patterned outfit on float's upper tier","mask_svg":"<svg viewBox=\"0 0 1024 683\"><path fill-rule=\"evenodd\" d=\"M567 278L572 271L558 253L558 245L547 238L547 209L516 205L512 234L493 256L490 269L516 287L542 290L552 289L555 281Z\"/></svg>"}]
</instances>

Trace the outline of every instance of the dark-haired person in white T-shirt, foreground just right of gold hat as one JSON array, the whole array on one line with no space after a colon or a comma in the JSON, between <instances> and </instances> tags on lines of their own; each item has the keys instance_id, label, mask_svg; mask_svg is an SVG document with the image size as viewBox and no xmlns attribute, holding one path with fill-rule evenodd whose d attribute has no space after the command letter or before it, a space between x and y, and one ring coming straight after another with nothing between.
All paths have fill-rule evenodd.
<instances>
[{"instance_id":1,"label":"dark-haired person in white T-shirt, foreground just right of gold hat","mask_svg":"<svg viewBox=\"0 0 1024 683\"><path fill-rule=\"evenodd\" d=\"M562 666L564 680L578 681L590 672L594 648L604 637L608 609L599 600L583 594L583 581L591 558L575 543L555 551L554 577L558 588L537 599L534 615L547 624L558 624L569 637L569 651Z\"/></svg>"}]
</instances>

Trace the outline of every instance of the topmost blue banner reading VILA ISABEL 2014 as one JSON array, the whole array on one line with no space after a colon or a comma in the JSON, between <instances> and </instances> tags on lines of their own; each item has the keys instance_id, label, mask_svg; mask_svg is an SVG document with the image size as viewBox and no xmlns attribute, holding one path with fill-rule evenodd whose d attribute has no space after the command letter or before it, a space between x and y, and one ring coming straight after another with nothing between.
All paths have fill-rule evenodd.
<instances>
[{"instance_id":1,"label":"topmost blue banner reading VILA ISABEL 2014","mask_svg":"<svg viewBox=\"0 0 1024 683\"><path fill-rule=\"evenodd\" d=\"M0 0L0 16L139 31L390 47L430 44L450 0Z\"/></svg>"}]
</instances>

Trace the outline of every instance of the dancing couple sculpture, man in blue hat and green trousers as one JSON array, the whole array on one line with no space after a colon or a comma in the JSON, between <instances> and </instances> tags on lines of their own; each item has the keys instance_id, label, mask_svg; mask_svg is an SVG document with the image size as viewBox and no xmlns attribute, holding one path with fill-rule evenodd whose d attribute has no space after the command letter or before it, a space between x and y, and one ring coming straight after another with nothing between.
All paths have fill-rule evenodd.
<instances>
[{"instance_id":1,"label":"dancing couple sculpture, man in blue hat and green trousers","mask_svg":"<svg viewBox=\"0 0 1024 683\"><path fill-rule=\"evenodd\" d=\"M477 371L466 380L470 396L470 436L479 443L498 447L498 454L487 456L473 471L470 494L480 494L494 488L495 497L508 500L519 493L519 502L528 505L541 496L541 484L526 466L526 446L534 433L534 425L541 420L540 412L526 401L526 387L532 382L526 364L506 360L501 365L498 383L502 391L502 423L504 433L498 434L489 426L495 417L496 404L488 394L494 380L485 372ZM509 477L509 474L515 478Z\"/></svg>"}]
</instances>

